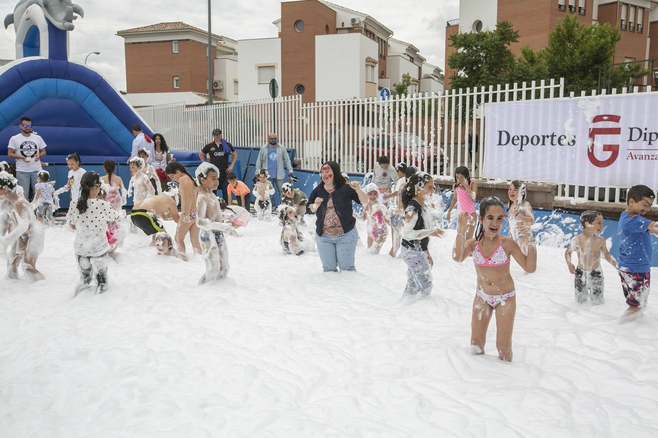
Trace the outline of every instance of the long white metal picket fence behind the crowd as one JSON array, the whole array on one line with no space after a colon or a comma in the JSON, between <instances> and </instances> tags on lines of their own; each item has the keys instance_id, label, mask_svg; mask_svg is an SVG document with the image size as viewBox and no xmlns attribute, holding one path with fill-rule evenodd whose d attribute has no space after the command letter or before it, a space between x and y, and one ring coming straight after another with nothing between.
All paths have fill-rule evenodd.
<instances>
[{"instance_id":1,"label":"long white metal picket fence behind the crowd","mask_svg":"<svg viewBox=\"0 0 658 438\"><path fill-rule=\"evenodd\" d=\"M637 91L637 87L632 90ZM301 96L291 96L195 108L166 104L138 112L172 148L200 150L211 141L215 128L222 129L234 146L261 146L269 133L276 133L282 144L296 150L303 169L317 170L322 162L334 159L344 171L367 172L379 156L386 155L392 165L406 162L449 179L461 165L472 177L480 176L485 104L557 97L564 97L564 79L398 95L389 100L304 103ZM619 203L625 202L624 190L567 183L558 185L558 196Z\"/></svg>"}]
</instances>

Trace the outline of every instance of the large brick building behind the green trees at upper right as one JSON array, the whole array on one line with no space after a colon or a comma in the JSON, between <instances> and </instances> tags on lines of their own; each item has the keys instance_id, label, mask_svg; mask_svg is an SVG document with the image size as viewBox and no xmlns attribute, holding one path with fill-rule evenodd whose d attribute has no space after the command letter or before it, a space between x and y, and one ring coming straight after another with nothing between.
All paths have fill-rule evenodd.
<instances>
[{"instance_id":1,"label":"large brick building behind the green trees at upper right","mask_svg":"<svg viewBox=\"0 0 658 438\"><path fill-rule=\"evenodd\" d=\"M461 0L459 18L445 27L445 87L449 88L449 78L454 74L447 65L455 52L449 36L491 30L501 21L519 30L519 42L511 45L517 56L525 45L534 50L545 47L557 22L566 14L576 14L582 24L609 23L620 30L622 39L615 48L613 62L658 58L658 37L653 44L650 37L652 30L658 32L657 6L658 0Z\"/></svg>"}]
</instances>

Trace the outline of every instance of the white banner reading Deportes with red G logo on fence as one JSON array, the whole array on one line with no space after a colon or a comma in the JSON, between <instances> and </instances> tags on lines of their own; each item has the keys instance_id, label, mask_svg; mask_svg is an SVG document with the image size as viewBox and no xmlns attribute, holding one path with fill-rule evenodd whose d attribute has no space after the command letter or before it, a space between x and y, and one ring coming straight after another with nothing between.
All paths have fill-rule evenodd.
<instances>
[{"instance_id":1,"label":"white banner reading Deportes with red G logo on fence","mask_svg":"<svg viewBox=\"0 0 658 438\"><path fill-rule=\"evenodd\" d=\"M658 188L658 92L486 105L483 176Z\"/></svg>"}]
</instances>

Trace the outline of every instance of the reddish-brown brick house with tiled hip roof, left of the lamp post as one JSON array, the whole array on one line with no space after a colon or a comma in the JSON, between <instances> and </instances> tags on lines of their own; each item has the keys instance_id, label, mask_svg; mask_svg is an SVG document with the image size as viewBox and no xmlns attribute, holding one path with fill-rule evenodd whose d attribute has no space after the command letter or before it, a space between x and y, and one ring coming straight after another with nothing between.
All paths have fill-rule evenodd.
<instances>
[{"instance_id":1,"label":"reddish-brown brick house with tiled hip roof, left of the lamp post","mask_svg":"<svg viewBox=\"0 0 658 438\"><path fill-rule=\"evenodd\" d=\"M126 51L126 91L208 93L208 33L183 22L120 30ZM237 100L238 41L212 35L214 100Z\"/></svg>"}]
</instances>

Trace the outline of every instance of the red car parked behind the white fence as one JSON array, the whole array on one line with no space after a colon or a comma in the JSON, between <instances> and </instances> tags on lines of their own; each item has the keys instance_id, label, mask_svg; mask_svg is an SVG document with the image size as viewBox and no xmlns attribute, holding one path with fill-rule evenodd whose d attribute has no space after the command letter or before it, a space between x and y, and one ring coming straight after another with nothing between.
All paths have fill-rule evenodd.
<instances>
[{"instance_id":1,"label":"red car parked behind the white fence","mask_svg":"<svg viewBox=\"0 0 658 438\"><path fill-rule=\"evenodd\" d=\"M385 155L392 165L405 162L421 171L443 171L443 152L432 144L426 144L417 135L374 133L366 135L357 150L357 172L369 172L377 159Z\"/></svg>"}]
</instances>

